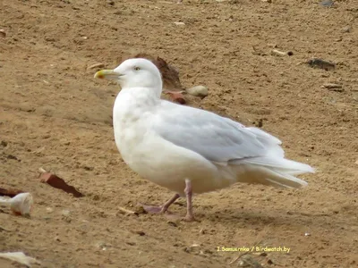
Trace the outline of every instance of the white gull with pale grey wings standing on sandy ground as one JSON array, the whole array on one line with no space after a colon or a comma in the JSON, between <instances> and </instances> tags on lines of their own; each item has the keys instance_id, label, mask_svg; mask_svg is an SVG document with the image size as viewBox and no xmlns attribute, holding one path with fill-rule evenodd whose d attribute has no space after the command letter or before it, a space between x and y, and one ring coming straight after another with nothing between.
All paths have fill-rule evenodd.
<instances>
[{"instance_id":1,"label":"white gull with pale grey wings standing on sandy ground","mask_svg":"<svg viewBox=\"0 0 358 268\"><path fill-rule=\"evenodd\" d=\"M285 158L281 141L267 132L216 113L177 105L160 98L161 73L149 60L128 59L95 78L116 80L115 145L132 171L175 192L161 206L143 206L164 214L179 197L186 197L183 220L196 219L192 196L227 188L234 183L277 188L302 188L295 177L314 169Z\"/></svg>"}]
</instances>

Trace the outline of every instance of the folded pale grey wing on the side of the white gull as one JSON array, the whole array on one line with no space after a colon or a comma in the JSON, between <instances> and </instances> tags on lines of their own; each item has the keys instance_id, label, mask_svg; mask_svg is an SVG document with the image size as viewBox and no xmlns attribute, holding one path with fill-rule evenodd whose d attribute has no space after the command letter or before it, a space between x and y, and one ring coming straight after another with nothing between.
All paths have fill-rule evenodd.
<instances>
[{"instance_id":1,"label":"folded pale grey wing on the side of the white gull","mask_svg":"<svg viewBox=\"0 0 358 268\"><path fill-rule=\"evenodd\" d=\"M257 135L255 131L215 113L163 102L156 114L153 130L159 136L209 161L227 163L267 155L268 147L265 138L262 138L265 135ZM268 140L271 144L272 140Z\"/></svg>"}]
</instances>

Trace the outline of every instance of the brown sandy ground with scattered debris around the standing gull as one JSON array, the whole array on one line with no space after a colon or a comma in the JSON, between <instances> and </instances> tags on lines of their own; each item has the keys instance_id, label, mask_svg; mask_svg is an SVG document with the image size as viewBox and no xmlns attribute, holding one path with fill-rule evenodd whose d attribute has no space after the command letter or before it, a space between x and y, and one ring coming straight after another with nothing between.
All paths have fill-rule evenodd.
<instances>
[{"instance_id":1,"label":"brown sandy ground with scattered debris around the standing gull","mask_svg":"<svg viewBox=\"0 0 358 268\"><path fill-rule=\"evenodd\" d=\"M29 191L35 205L30 219L1 207L0 252L23 251L35 267L357 267L358 2L319 2L1 1L0 187ZM185 88L207 86L200 107L262 121L289 158L317 168L301 176L309 186L201 195L200 222L121 214L172 193L124 164L111 125L119 88L87 67L139 52L173 64ZM299 64L313 56L336 70ZM39 167L85 197L40 183ZM217 251L254 246L290 252Z\"/></svg>"}]
</instances>

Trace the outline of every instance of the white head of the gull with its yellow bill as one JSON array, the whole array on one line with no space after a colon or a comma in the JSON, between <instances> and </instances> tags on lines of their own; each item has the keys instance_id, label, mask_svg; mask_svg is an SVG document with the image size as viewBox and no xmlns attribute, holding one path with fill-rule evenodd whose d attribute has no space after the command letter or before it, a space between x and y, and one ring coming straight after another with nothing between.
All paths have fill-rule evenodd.
<instances>
[{"instance_id":1,"label":"white head of the gull with its yellow bill","mask_svg":"<svg viewBox=\"0 0 358 268\"><path fill-rule=\"evenodd\" d=\"M157 66L147 59L135 58L121 63L114 70L96 72L95 78L116 80L121 88L156 88L162 90L162 78Z\"/></svg>"}]
</instances>

